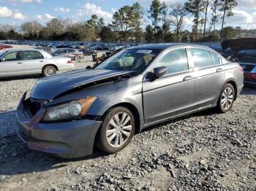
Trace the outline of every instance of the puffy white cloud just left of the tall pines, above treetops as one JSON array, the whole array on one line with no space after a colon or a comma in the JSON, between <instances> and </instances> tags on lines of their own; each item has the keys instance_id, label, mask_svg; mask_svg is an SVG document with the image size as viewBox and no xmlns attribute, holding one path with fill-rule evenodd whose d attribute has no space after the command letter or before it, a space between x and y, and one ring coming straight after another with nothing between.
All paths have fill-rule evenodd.
<instances>
[{"instance_id":1,"label":"puffy white cloud just left of the tall pines, above treetops","mask_svg":"<svg viewBox=\"0 0 256 191\"><path fill-rule=\"evenodd\" d=\"M84 4L83 9L78 9L78 16L83 17L85 15L97 15L98 17L102 17L107 21L110 21L112 19L112 14L103 11L102 7L90 3Z\"/></svg>"}]
</instances>

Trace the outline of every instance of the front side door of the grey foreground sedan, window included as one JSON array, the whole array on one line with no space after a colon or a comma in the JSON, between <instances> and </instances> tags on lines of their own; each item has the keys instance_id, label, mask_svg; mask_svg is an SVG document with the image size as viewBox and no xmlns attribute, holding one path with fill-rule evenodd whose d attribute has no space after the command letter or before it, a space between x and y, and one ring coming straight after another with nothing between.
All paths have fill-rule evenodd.
<instances>
[{"instance_id":1,"label":"front side door of the grey foreground sedan, window included","mask_svg":"<svg viewBox=\"0 0 256 191\"><path fill-rule=\"evenodd\" d=\"M193 108L195 77L186 49L170 50L159 58L154 68L167 67L165 76L143 80L143 107L146 123L157 122ZM148 73L151 74L151 73Z\"/></svg>"}]
</instances>

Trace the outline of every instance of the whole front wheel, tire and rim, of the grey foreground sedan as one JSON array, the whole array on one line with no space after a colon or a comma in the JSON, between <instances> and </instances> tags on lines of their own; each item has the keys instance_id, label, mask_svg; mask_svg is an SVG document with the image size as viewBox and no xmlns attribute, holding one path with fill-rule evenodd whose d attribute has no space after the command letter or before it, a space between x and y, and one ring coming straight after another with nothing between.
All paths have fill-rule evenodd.
<instances>
[{"instance_id":1,"label":"whole front wheel, tire and rim, of the grey foreground sedan","mask_svg":"<svg viewBox=\"0 0 256 191\"><path fill-rule=\"evenodd\" d=\"M110 109L105 115L97 133L96 146L98 149L115 153L129 144L135 133L135 119L129 109L118 106Z\"/></svg>"}]
</instances>

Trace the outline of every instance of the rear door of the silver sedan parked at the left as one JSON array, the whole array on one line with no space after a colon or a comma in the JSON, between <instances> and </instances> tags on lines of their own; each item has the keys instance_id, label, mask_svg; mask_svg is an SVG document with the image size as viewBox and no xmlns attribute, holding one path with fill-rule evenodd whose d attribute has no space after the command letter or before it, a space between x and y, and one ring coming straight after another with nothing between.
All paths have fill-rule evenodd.
<instances>
[{"instance_id":1,"label":"rear door of the silver sedan parked at the left","mask_svg":"<svg viewBox=\"0 0 256 191\"><path fill-rule=\"evenodd\" d=\"M41 74L42 67L46 60L37 50L28 50L24 52L24 73L25 74Z\"/></svg>"}]
</instances>

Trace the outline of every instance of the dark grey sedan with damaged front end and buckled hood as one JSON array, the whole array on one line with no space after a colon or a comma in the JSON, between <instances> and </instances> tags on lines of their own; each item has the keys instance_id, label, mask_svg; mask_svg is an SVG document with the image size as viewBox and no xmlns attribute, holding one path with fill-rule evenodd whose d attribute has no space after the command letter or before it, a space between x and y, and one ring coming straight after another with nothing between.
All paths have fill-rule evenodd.
<instances>
[{"instance_id":1,"label":"dark grey sedan with damaged front end and buckled hood","mask_svg":"<svg viewBox=\"0 0 256 191\"><path fill-rule=\"evenodd\" d=\"M114 153L135 132L216 107L227 112L243 70L211 48L148 44L116 53L95 69L39 79L17 109L18 136L59 157Z\"/></svg>"}]
</instances>

